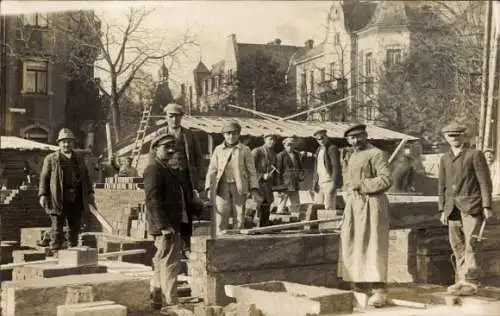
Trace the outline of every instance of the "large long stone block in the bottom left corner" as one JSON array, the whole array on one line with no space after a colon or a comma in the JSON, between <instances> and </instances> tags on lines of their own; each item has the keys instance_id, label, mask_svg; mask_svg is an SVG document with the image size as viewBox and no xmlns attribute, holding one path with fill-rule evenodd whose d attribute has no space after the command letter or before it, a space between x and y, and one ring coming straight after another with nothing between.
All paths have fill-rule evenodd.
<instances>
[{"instance_id":1,"label":"large long stone block in the bottom left corner","mask_svg":"<svg viewBox=\"0 0 500 316\"><path fill-rule=\"evenodd\" d=\"M55 316L57 306L65 304L68 286L92 286L96 301L114 301L133 315L144 315L148 308L149 278L101 273L4 282L3 315Z\"/></svg>"}]
</instances>

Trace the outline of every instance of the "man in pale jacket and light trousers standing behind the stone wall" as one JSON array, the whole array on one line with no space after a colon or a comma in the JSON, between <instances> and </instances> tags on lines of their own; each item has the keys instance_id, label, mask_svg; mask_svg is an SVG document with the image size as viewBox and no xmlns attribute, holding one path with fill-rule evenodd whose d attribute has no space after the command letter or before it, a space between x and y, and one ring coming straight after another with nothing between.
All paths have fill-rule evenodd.
<instances>
[{"instance_id":1,"label":"man in pale jacket and light trousers standing behind the stone wall","mask_svg":"<svg viewBox=\"0 0 500 316\"><path fill-rule=\"evenodd\" d=\"M245 202L249 193L255 200L260 200L252 152L240 143L240 124L235 121L224 123L221 132L224 141L215 147L205 179L207 197L215 194L217 234L229 228L232 216L233 228L244 228Z\"/></svg>"}]
</instances>

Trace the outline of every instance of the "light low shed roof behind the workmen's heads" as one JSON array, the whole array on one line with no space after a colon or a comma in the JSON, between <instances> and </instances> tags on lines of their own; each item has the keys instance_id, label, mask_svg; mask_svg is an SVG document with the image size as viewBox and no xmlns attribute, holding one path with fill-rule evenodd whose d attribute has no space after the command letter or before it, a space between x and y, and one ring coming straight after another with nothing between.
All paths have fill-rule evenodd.
<instances>
[{"instance_id":1,"label":"light low shed roof behind the workmen's heads","mask_svg":"<svg viewBox=\"0 0 500 316\"><path fill-rule=\"evenodd\" d=\"M269 121L257 118L239 117L215 117L215 116L185 116L182 125L188 129L201 130L208 134L219 134L222 125L228 121L237 121L242 127L241 134L260 137L267 133L274 133L279 136L312 137L312 134L319 129L326 129L328 136L332 138L344 138L344 131L350 125L340 122L320 122L320 121ZM144 144L151 141L156 135L165 130L165 121L157 121L156 130L151 132L144 139ZM155 127L152 127L155 128ZM378 126L367 126L368 137L376 140L394 140L407 138L416 140L418 138L398 133ZM118 155L123 155L133 149L134 144L130 144L117 151Z\"/></svg>"}]
</instances>

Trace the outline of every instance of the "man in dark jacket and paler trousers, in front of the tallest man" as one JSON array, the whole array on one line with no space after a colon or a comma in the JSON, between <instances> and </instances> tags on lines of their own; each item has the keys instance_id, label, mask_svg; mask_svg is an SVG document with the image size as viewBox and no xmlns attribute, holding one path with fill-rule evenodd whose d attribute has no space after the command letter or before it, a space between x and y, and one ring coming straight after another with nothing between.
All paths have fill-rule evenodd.
<instances>
[{"instance_id":1,"label":"man in dark jacket and paler trousers, in front of the tallest man","mask_svg":"<svg viewBox=\"0 0 500 316\"><path fill-rule=\"evenodd\" d=\"M156 247L151 306L168 309L178 303L176 280L186 232L183 228L191 226L198 208L190 178L184 176L175 157L178 150L175 136L157 136L151 147L155 158L144 170L148 233L153 236Z\"/></svg>"}]
</instances>

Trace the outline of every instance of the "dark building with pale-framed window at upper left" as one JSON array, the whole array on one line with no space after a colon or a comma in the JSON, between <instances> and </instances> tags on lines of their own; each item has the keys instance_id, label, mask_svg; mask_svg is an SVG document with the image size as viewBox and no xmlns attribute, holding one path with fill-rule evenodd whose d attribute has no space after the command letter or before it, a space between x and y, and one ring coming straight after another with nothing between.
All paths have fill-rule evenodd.
<instances>
[{"instance_id":1,"label":"dark building with pale-framed window at upper left","mask_svg":"<svg viewBox=\"0 0 500 316\"><path fill-rule=\"evenodd\" d=\"M94 81L99 23L92 11L4 17L3 131L53 143L71 128L81 145L100 109Z\"/></svg>"}]
</instances>

